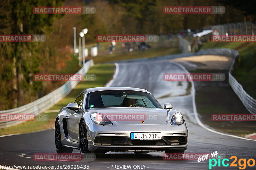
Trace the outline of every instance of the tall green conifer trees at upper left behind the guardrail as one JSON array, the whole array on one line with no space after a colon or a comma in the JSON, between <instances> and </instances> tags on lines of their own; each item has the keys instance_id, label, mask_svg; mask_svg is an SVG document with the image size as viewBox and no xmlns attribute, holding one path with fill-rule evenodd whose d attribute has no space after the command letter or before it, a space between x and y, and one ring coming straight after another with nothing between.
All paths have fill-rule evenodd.
<instances>
[{"instance_id":1,"label":"tall green conifer trees at upper left behind the guardrail","mask_svg":"<svg viewBox=\"0 0 256 170\"><path fill-rule=\"evenodd\" d=\"M0 34L44 34L55 17L63 15L34 14L35 6L61 6L64 0L4 0L0 6ZM40 61L36 53L40 43L36 42L1 42L2 94L10 97L9 107L24 104L24 90L42 87L41 82L33 82L33 74L38 72ZM1 83L1 85L2 85ZM1 94L0 94L1 95ZM3 96L3 95L2 95Z\"/></svg>"}]
</instances>

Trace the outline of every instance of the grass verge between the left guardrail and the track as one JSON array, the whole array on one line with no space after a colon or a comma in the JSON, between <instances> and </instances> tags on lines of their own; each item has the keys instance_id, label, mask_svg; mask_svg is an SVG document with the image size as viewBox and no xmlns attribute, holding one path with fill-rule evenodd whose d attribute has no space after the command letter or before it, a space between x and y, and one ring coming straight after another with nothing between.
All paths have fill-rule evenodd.
<instances>
[{"instance_id":1,"label":"grass verge between the left guardrail and the track","mask_svg":"<svg viewBox=\"0 0 256 170\"><path fill-rule=\"evenodd\" d=\"M87 74L95 74L95 81L81 81L76 87L68 94L68 96L64 97L59 103L54 105L49 110L60 110L63 106L66 106L68 103L72 103L75 101L77 95L84 89L92 88L92 87L102 87L104 86L114 74L115 65L113 64L98 64L91 67ZM24 123L11 126L5 129L0 130L0 135L6 134L14 134L14 133L26 133L32 131L38 131L42 129L48 129L54 127L55 117L57 116L57 112L52 113L43 113L47 114L49 117L48 121L26 121ZM41 114L42 115L42 114Z\"/></svg>"}]
</instances>

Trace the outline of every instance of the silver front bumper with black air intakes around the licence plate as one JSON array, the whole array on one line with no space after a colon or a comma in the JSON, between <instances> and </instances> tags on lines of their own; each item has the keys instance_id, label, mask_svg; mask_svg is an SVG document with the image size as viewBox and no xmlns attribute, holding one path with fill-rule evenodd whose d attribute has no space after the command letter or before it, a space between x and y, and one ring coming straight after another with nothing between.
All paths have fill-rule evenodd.
<instances>
[{"instance_id":1,"label":"silver front bumper with black air intakes around the licence plate","mask_svg":"<svg viewBox=\"0 0 256 170\"><path fill-rule=\"evenodd\" d=\"M129 131L127 131L129 129ZM160 132L161 140L131 140L132 132ZM186 150L188 130L182 125L87 125L89 151L166 151Z\"/></svg>"}]
</instances>

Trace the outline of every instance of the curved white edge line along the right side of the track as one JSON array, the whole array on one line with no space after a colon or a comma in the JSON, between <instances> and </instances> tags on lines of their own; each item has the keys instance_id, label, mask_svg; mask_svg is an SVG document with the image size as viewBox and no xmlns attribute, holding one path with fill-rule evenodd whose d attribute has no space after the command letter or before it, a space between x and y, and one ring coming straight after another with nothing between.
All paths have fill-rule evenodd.
<instances>
[{"instance_id":1,"label":"curved white edge line along the right side of the track","mask_svg":"<svg viewBox=\"0 0 256 170\"><path fill-rule=\"evenodd\" d=\"M176 64L177 66L181 67L186 73L189 74L188 70L187 70L184 66L182 66L181 64L179 64L179 63L177 63L177 62L175 62L175 61L169 61L169 62L172 63L172 64ZM221 132L219 132L219 131L215 131L215 130L213 130L213 129L210 129L210 128L206 127L206 126L201 122L201 120L200 120L199 117L198 117L198 113L197 113L197 110L196 110L196 101L195 101L195 100L196 100L196 99L195 99L195 96L196 96L196 89L195 89L194 82L191 81L191 80L190 80L190 82L191 82L191 84L192 84L193 111L194 111L194 115L195 115L195 117L196 117L196 122L197 122L197 124L199 124L199 125L200 125L202 128L204 128L205 130L211 131L211 132L213 132L213 133L217 133L217 134L219 134L219 135L224 135L224 136L229 136L229 137L234 137L234 138L239 138L239 139L244 139L244 140L256 141L255 139L243 138L243 137L236 136L236 135L230 135L230 134L221 133Z\"/></svg>"}]
</instances>

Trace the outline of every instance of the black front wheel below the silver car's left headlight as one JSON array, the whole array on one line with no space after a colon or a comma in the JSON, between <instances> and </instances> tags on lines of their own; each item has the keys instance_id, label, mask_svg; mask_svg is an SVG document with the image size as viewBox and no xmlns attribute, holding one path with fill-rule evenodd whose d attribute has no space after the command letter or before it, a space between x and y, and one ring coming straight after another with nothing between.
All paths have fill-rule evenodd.
<instances>
[{"instance_id":1,"label":"black front wheel below the silver car's left headlight","mask_svg":"<svg viewBox=\"0 0 256 170\"><path fill-rule=\"evenodd\" d=\"M84 153L89 153L88 150L88 140L87 140L87 130L86 130L86 124L85 121L80 124L79 126L79 151L82 155Z\"/></svg>"}]
</instances>

